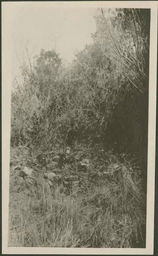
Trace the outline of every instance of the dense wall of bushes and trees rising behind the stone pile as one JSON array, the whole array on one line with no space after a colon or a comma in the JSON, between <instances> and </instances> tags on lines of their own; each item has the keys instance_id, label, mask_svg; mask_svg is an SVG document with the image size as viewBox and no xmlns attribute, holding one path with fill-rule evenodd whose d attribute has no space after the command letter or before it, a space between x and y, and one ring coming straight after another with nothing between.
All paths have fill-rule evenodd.
<instances>
[{"instance_id":1,"label":"dense wall of bushes and trees rising behind the stone pile","mask_svg":"<svg viewBox=\"0 0 158 256\"><path fill-rule=\"evenodd\" d=\"M107 20L101 9L94 43L68 67L54 50L21 65L23 81L12 92L12 145L146 148L149 28L143 17L150 19L148 11L117 9Z\"/></svg>"}]
</instances>

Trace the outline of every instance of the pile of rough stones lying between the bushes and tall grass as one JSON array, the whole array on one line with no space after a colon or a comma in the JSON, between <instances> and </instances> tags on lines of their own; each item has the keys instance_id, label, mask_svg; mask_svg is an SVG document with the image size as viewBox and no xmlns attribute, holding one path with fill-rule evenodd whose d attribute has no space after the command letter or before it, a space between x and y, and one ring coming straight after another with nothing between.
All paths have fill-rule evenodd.
<instances>
[{"instance_id":1,"label":"pile of rough stones lying between the bushes and tall grass","mask_svg":"<svg viewBox=\"0 0 158 256\"><path fill-rule=\"evenodd\" d=\"M76 172L70 172L64 168L65 164L67 164L72 157L76 163ZM19 182L23 183L27 181L28 184L37 186L39 188L40 184L48 184L49 188L53 188L56 185L62 185L64 189L69 192L73 192L80 188L81 185L81 174L80 172L87 172L90 169L89 160L83 158L82 154L78 153L78 155L74 156L74 153L70 150L70 148L66 148L63 154L55 154L52 157L52 161L46 165L45 173L40 175L39 172L36 172L27 166L21 167L19 171ZM62 169L60 168L60 160L63 160ZM43 178L42 178L43 176ZM46 183L45 183L46 182Z\"/></svg>"}]
</instances>

